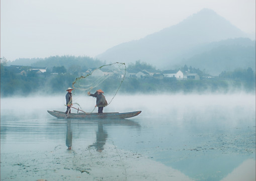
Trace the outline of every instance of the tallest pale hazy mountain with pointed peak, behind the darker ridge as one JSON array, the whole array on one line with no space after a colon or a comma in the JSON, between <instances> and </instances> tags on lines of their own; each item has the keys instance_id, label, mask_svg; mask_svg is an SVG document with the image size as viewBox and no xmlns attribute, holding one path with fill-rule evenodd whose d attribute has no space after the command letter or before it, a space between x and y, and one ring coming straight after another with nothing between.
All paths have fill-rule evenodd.
<instances>
[{"instance_id":1,"label":"tallest pale hazy mountain with pointed peak, behind the darker ridge","mask_svg":"<svg viewBox=\"0 0 256 181\"><path fill-rule=\"evenodd\" d=\"M214 11L203 9L181 23L108 49L97 56L102 61L141 60L157 68L171 68L183 59L203 53L204 45L226 39L249 37Z\"/></svg>"}]
</instances>

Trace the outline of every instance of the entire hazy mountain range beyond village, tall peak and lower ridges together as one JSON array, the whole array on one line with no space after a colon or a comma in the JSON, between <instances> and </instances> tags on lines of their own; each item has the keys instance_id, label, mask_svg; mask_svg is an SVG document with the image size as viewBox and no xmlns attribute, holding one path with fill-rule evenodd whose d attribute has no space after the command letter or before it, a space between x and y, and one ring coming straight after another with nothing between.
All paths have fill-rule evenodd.
<instances>
[{"instance_id":1,"label":"entire hazy mountain range beyond village, tall peak and lower ridges together","mask_svg":"<svg viewBox=\"0 0 256 181\"><path fill-rule=\"evenodd\" d=\"M161 70L177 69L185 64L218 75L221 71L251 67L255 71L255 40L214 11L203 9L181 23L108 49L96 59L53 56L20 58L7 65L65 66L67 69L98 67L109 62L141 60Z\"/></svg>"}]
</instances>

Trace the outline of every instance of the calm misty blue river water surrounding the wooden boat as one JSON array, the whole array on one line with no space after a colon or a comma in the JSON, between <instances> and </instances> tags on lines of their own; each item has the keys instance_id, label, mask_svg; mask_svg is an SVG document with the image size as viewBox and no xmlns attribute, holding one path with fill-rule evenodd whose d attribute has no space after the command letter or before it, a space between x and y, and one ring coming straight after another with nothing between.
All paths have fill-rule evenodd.
<instances>
[{"instance_id":1,"label":"calm misty blue river water surrounding the wooden boat","mask_svg":"<svg viewBox=\"0 0 256 181\"><path fill-rule=\"evenodd\" d=\"M1 99L1 180L255 180L254 95L117 96L142 113L100 121L47 113L64 101Z\"/></svg>"}]
</instances>

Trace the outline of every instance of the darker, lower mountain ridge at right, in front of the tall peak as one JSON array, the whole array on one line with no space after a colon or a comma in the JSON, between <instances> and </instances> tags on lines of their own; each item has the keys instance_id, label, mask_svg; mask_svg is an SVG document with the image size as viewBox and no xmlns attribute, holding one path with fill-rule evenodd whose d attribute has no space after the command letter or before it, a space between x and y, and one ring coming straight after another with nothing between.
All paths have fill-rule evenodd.
<instances>
[{"instance_id":1,"label":"darker, lower mountain ridge at right, in front of the tall peak","mask_svg":"<svg viewBox=\"0 0 256 181\"><path fill-rule=\"evenodd\" d=\"M248 41L243 44L241 42ZM230 44L233 42L233 44ZM247 45L246 45L247 44ZM206 45L208 49L181 61L180 65L193 65L212 75L219 75L222 71L233 71L236 68L247 69L251 67L255 72L255 40L232 39L214 42Z\"/></svg>"}]
</instances>

